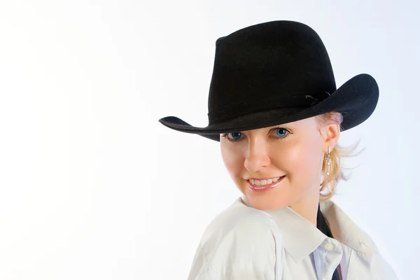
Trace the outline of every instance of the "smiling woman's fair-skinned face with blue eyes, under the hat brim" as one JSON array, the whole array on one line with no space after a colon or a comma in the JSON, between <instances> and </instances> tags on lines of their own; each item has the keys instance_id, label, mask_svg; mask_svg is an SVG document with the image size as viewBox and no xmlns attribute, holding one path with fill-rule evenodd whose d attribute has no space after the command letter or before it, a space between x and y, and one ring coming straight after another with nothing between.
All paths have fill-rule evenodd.
<instances>
[{"instance_id":1,"label":"smiling woman's fair-skinned face with blue eyes, under the hat brim","mask_svg":"<svg viewBox=\"0 0 420 280\"><path fill-rule=\"evenodd\" d=\"M256 209L270 210L319 201L323 155L335 146L339 125L318 130L315 117L257 130L221 134L223 162L235 184ZM225 137L223 137L225 135ZM248 178L285 176L260 192ZM258 186L262 187L262 186Z\"/></svg>"}]
</instances>

